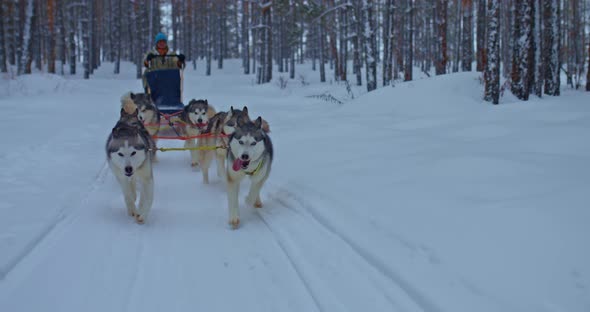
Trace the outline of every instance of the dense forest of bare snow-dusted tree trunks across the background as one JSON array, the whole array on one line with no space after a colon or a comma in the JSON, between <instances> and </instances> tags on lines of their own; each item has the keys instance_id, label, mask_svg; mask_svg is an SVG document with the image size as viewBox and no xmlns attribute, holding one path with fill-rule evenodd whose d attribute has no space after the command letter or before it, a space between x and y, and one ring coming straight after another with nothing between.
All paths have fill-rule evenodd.
<instances>
[{"instance_id":1,"label":"dense forest of bare snow-dusted tree trunks across the background","mask_svg":"<svg viewBox=\"0 0 590 312\"><path fill-rule=\"evenodd\" d=\"M120 62L130 61L140 77L142 58L162 30L188 66L205 60L207 75L239 58L244 74L262 84L273 66L295 79L307 62L322 82L372 91L412 80L415 70L477 70L485 100L497 104L506 89L522 100L557 96L560 73L567 86L590 91L588 2L0 0L0 70L81 70L88 79L103 62L118 73ZM326 66L334 77L326 77Z\"/></svg>"}]
</instances>

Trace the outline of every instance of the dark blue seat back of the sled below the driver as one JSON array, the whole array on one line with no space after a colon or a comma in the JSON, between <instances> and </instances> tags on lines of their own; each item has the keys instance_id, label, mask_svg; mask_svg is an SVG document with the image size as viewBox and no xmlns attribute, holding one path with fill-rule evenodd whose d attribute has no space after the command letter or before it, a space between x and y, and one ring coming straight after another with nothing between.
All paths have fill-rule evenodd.
<instances>
[{"instance_id":1,"label":"dark blue seat back of the sled below the driver","mask_svg":"<svg viewBox=\"0 0 590 312\"><path fill-rule=\"evenodd\" d=\"M184 104L180 101L180 69L157 69L145 73L150 87L152 100L164 114L181 111Z\"/></svg>"}]
</instances>

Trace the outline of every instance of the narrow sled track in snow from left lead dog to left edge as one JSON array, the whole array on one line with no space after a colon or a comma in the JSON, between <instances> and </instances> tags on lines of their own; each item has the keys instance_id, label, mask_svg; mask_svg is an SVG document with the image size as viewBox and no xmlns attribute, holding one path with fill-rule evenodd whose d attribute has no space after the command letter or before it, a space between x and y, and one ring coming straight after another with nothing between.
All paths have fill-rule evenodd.
<instances>
[{"instance_id":1,"label":"narrow sled track in snow from left lead dog to left edge","mask_svg":"<svg viewBox=\"0 0 590 312\"><path fill-rule=\"evenodd\" d=\"M21 262L23 262L38 246L40 246L43 242L47 241L47 239L51 236L51 234L59 228L61 224L65 224L65 222L72 217L72 212L75 208L83 206L84 204L88 203L88 198L92 195L96 190L103 184L105 177L109 171L108 163L105 161L101 167L101 169L96 173L94 179L90 183L88 189L83 192L80 197L77 199L71 200L69 204L66 204L62 209L59 210L57 216L53 219L52 222L47 224L42 231L39 232L39 235L35 237L24 249L21 253L17 254L12 261L10 261L6 265L6 270L4 272L0 272L0 281L4 280L6 276L10 274ZM70 220L71 222L71 220Z\"/></svg>"}]
</instances>

